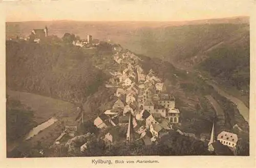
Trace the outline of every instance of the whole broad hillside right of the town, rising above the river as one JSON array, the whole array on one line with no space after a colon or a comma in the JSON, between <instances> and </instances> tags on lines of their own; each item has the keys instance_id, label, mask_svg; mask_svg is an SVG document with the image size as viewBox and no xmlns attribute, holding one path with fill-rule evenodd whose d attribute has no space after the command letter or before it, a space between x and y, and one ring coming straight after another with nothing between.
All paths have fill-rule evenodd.
<instances>
[{"instance_id":1,"label":"whole broad hillside right of the town, rising above the river","mask_svg":"<svg viewBox=\"0 0 256 168\"><path fill-rule=\"evenodd\" d=\"M141 28L133 32L124 46L182 69L200 70L226 87L249 93L247 23Z\"/></svg>"}]
</instances>

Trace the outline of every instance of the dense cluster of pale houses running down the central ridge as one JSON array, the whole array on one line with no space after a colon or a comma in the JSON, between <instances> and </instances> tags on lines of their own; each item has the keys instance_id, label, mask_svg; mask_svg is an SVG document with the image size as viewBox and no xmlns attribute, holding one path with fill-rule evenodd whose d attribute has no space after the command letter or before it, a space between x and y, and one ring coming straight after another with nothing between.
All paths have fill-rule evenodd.
<instances>
[{"instance_id":1,"label":"dense cluster of pale houses running down the central ridge","mask_svg":"<svg viewBox=\"0 0 256 168\"><path fill-rule=\"evenodd\" d=\"M125 65L121 72L111 72L109 84L117 89L116 102L94 120L94 125L99 129L124 126L126 141L138 140L134 138L137 136L150 145L179 124L180 111L174 96L164 93L164 84L153 70L145 73L137 56L116 48L114 51L114 60ZM109 132L104 139L113 143L113 137L114 133Z\"/></svg>"}]
</instances>

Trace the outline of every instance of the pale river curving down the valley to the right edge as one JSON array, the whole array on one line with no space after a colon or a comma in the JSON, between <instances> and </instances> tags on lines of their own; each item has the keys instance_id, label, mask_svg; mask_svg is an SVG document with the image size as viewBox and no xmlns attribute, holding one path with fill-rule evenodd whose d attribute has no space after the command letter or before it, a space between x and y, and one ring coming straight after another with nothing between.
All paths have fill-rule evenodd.
<instances>
[{"instance_id":1,"label":"pale river curving down the valley to the right edge","mask_svg":"<svg viewBox=\"0 0 256 168\"><path fill-rule=\"evenodd\" d=\"M232 95L228 94L227 92L225 92L224 90L222 90L220 87L218 87L216 84L208 82L207 84L211 85L212 87L214 87L214 89L221 94L223 97L227 98L228 100L230 100L231 102L233 102L234 104L237 105L237 108L240 112L240 114L244 117L245 121L249 124L249 108L246 107L246 105L239 100L236 97L233 97Z\"/></svg>"}]
</instances>

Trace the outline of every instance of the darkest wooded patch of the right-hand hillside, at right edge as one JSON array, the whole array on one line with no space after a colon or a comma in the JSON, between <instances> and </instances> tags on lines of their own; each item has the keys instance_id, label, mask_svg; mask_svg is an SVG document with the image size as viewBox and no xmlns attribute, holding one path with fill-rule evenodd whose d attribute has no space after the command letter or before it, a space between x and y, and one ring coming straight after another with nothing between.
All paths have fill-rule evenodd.
<instances>
[{"instance_id":1,"label":"darkest wooded patch of the right-hand hillside, at right edge","mask_svg":"<svg viewBox=\"0 0 256 168\"><path fill-rule=\"evenodd\" d=\"M224 43L207 53L208 58L198 68L207 71L219 81L249 92L250 38L249 33L232 43Z\"/></svg>"}]
</instances>

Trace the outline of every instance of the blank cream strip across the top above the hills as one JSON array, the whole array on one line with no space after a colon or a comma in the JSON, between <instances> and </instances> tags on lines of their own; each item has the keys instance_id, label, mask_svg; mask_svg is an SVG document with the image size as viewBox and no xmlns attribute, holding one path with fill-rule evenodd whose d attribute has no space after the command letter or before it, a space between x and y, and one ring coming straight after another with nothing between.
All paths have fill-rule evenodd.
<instances>
[{"instance_id":1,"label":"blank cream strip across the top above the hills","mask_svg":"<svg viewBox=\"0 0 256 168\"><path fill-rule=\"evenodd\" d=\"M13 2L14 1L14 2ZM3 0L6 21L180 21L248 16L253 0Z\"/></svg>"}]
</instances>

